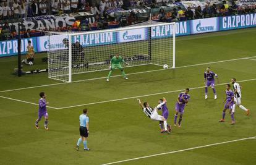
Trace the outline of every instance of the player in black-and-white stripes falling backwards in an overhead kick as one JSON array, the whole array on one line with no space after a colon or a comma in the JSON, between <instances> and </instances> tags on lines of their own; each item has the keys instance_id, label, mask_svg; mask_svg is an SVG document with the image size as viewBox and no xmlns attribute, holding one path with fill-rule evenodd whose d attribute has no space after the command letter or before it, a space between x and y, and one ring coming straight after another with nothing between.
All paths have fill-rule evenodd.
<instances>
[{"instance_id":1,"label":"player in black-and-white stripes falling backwards in an overhead kick","mask_svg":"<svg viewBox=\"0 0 256 165\"><path fill-rule=\"evenodd\" d=\"M145 102L145 103L142 104L142 102L140 101L139 98L138 98L137 100L139 101L140 107L142 108L143 112L144 112L150 119L152 119L152 120L154 120L154 121L166 121L166 119L165 119L163 116L159 115L158 112L157 112L158 109L161 108L161 106L163 106L164 104L166 104L166 99L165 99L165 98L163 98L163 103L158 104L154 109L151 108L150 105L149 105L147 102ZM169 131L170 131L170 130L168 130L167 124L164 125L164 132L170 133Z\"/></svg>"}]
</instances>

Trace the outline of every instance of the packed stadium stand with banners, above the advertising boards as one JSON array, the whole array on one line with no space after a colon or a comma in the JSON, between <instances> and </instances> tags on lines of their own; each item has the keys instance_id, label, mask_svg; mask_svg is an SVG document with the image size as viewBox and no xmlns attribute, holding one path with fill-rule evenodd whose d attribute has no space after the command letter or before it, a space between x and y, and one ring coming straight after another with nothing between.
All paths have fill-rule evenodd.
<instances>
[{"instance_id":1,"label":"packed stadium stand with banners, above the advertising boards","mask_svg":"<svg viewBox=\"0 0 256 165\"><path fill-rule=\"evenodd\" d=\"M123 27L151 19L161 22L250 14L255 1L169 1L169 0L0 0L0 40L17 38L15 23L23 23L22 38L44 35L36 30L87 31ZM72 24L66 23L72 17ZM62 23L53 20L64 19ZM46 23L58 24L56 26ZM53 21L53 22L51 22ZM66 21L66 22L65 22ZM38 23L28 27L27 22ZM79 22L79 23L78 23ZM26 24L27 23L27 24ZM69 22L70 23L70 22ZM32 30L33 29L33 30ZM27 31L30 31L29 34Z\"/></svg>"}]
</instances>

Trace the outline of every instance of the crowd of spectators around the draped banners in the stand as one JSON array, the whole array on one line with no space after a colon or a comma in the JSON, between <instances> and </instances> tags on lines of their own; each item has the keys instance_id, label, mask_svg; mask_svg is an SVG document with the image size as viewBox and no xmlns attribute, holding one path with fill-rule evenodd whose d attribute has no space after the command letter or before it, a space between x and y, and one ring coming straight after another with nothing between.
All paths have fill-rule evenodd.
<instances>
[{"instance_id":1,"label":"crowd of spectators around the draped banners in the stand","mask_svg":"<svg viewBox=\"0 0 256 165\"><path fill-rule=\"evenodd\" d=\"M109 17L108 9L124 9L130 7L159 8L159 12L152 15L152 20L161 22L177 22L181 20L203 19L224 15L249 14L256 12L256 5L237 6L237 1L220 1L218 4L208 4L202 9L198 7L181 6L173 7L171 11L164 11L163 6L170 3L181 2L181 0L0 0L0 20L6 22L1 28L0 40L14 38L15 32L11 30L8 23L10 20L19 20L25 17L40 15L59 15L76 12L87 12L88 15L95 15L93 22L77 20L74 27L58 27L56 29L45 29L51 31L86 31L108 28L109 23L116 23L119 26L127 26L139 23L140 20L135 12L130 11L129 15L122 14L119 17ZM29 32L28 32L29 31ZM24 37L30 37L30 30L25 30Z\"/></svg>"}]
</instances>

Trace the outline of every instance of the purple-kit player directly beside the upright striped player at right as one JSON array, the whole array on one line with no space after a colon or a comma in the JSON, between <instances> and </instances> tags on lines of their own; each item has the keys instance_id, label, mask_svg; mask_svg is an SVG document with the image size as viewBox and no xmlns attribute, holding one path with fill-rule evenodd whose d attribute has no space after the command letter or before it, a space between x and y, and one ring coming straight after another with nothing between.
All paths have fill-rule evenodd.
<instances>
[{"instance_id":1,"label":"purple-kit player directly beside the upright striped player at right","mask_svg":"<svg viewBox=\"0 0 256 165\"><path fill-rule=\"evenodd\" d=\"M225 121L225 115L226 115L226 110L229 109L229 114L231 116L232 122L231 124L235 124L234 121L234 113L232 112L233 106L234 106L234 92L230 90L230 85L226 85L226 99L224 99L223 103L226 101L226 104L224 105L224 109L222 112L222 119L220 119L219 122L224 122Z\"/></svg>"}]
</instances>

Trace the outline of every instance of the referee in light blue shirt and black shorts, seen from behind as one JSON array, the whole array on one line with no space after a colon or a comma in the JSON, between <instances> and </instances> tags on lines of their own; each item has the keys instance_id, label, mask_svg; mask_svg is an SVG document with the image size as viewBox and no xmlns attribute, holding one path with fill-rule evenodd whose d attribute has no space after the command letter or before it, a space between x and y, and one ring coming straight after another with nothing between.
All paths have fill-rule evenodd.
<instances>
[{"instance_id":1,"label":"referee in light blue shirt and black shorts, seen from behind","mask_svg":"<svg viewBox=\"0 0 256 165\"><path fill-rule=\"evenodd\" d=\"M85 108L83 109L83 114L81 114L79 116L79 121L80 121L80 127L79 127L79 131L80 131L80 138L79 140L77 140L77 146L75 147L76 150L79 150L79 144L82 142L83 140L83 150L88 151L89 148L87 148L87 137L89 134L89 117L87 116L88 113L88 109Z\"/></svg>"}]
</instances>

